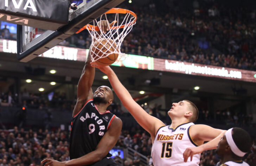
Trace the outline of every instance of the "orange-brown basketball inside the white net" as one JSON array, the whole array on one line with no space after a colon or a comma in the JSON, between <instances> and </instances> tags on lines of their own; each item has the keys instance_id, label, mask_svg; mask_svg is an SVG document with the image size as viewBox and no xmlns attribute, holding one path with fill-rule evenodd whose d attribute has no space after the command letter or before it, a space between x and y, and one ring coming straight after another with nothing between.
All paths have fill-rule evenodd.
<instances>
[{"instance_id":1,"label":"orange-brown basketball inside the white net","mask_svg":"<svg viewBox=\"0 0 256 166\"><path fill-rule=\"evenodd\" d=\"M113 53L116 47L117 47L116 43L111 39L97 40L95 41L94 45L91 48L92 58L97 59L99 57L103 57L103 58L97 59L95 62L101 66L109 66L113 64L118 58L118 54Z\"/></svg>"}]
</instances>

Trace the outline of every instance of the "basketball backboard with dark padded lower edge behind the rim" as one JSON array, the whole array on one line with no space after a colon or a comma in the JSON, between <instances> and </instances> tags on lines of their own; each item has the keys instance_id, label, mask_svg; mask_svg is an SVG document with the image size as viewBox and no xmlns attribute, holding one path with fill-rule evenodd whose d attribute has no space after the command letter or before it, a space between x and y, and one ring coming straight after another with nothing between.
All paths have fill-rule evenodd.
<instances>
[{"instance_id":1,"label":"basketball backboard with dark padded lower edge behind the rim","mask_svg":"<svg viewBox=\"0 0 256 166\"><path fill-rule=\"evenodd\" d=\"M73 2L77 3L77 9L69 8L68 24L59 27L57 31L17 25L18 60L28 62L36 58L123 1L70 0L70 4Z\"/></svg>"}]
</instances>

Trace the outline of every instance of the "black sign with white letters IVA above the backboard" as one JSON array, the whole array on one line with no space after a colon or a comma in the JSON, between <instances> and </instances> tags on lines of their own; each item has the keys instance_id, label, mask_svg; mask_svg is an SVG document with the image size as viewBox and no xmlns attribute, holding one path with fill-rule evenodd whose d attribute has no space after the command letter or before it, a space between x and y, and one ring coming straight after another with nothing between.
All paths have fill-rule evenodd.
<instances>
[{"instance_id":1,"label":"black sign with white letters IVA above the backboard","mask_svg":"<svg viewBox=\"0 0 256 166\"><path fill-rule=\"evenodd\" d=\"M61 13L61 14L60 14ZM67 0L1 0L0 20L56 31L68 24Z\"/></svg>"}]
</instances>

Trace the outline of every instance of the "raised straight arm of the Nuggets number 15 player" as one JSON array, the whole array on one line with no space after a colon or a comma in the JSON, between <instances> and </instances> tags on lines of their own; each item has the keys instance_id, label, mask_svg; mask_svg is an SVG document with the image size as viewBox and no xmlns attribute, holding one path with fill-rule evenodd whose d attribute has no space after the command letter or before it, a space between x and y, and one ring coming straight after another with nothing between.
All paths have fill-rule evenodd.
<instances>
[{"instance_id":1,"label":"raised straight arm of the Nuggets number 15 player","mask_svg":"<svg viewBox=\"0 0 256 166\"><path fill-rule=\"evenodd\" d=\"M96 64L93 64L92 66L99 68L103 73L107 74L111 86L124 107L128 109L141 127L149 132L152 138L154 138L159 127L164 126L165 124L161 120L149 115L133 100L130 93L122 85L114 71L109 66L98 66Z\"/></svg>"}]
</instances>

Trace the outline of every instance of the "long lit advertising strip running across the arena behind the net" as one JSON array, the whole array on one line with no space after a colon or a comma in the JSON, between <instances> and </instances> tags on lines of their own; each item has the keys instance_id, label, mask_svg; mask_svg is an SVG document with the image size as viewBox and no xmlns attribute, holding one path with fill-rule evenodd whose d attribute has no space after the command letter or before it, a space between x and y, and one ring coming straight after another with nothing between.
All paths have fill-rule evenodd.
<instances>
[{"instance_id":1,"label":"long lit advertising strip running across the arena behind the net","mask_svg":"<svg viewBox=\"0 0 256 166\"><path fill-rule=\"evenodd\" d=\"M17 42L13 40L0 39L0 52L17 54ZM55 46L39 56L45 58L86 61L88 54L89 49ZM204 77L256 82L256 71L159 59L141 55L128 54L126 59L115 62L112 66L124 66L188 75L199 75Z\"/></svg>"}]
</instances>

